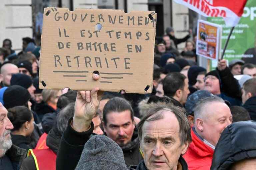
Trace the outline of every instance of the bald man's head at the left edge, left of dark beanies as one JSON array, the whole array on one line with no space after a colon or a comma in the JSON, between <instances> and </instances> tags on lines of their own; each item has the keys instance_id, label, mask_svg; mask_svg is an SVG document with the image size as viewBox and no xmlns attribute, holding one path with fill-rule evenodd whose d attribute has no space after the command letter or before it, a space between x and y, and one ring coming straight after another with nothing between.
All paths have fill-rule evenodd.
<instances>
[{"instance_id":1,"label":"bald man's head at the left edge, left of dark beanies","mask_svg":"<svg viewBox=\"0 0 256 170\"><path fill-rule=\"evenodd\" d=\"M0 71L0 77L2 79L3 86L9 86L12 75L19 73L18 67L11 63L4 64Z\"/></svg>"}]
</instances>

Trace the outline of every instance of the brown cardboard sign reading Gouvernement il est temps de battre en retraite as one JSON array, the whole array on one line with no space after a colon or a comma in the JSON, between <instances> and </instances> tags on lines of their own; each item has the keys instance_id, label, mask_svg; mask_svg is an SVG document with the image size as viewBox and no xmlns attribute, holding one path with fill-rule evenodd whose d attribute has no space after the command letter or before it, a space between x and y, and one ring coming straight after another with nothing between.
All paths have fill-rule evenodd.
<instances>
[{"instance_id":1,"label":"brown cardboard sign reading Gouvernement il est temps de battre en retraite","mask_svg":"<svg viewBox=\"0 0 256 170\"><path fill-rule=\"evenodd\" d=\"M152 11L45 8L39 87L151 93L155 30Z\"/></svg>"}]
</instances>

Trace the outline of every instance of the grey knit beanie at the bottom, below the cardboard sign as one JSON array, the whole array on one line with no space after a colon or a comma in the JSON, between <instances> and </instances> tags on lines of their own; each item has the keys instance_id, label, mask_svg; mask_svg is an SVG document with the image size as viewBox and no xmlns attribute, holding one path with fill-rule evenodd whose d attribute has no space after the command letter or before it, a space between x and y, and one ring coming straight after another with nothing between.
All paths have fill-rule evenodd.
<instances>
[{"instance_id":1,"label":"grey knit beanie at the bottom, below the cardboard sign","mask_svg":"<svg viewBox=\"0 0 256 170\"><path fill-rule=\"evenodd\" d=\"M84 145L75 170L128 170L122 149L105 135L95 135Z\"/></svg>"}]
</instances>

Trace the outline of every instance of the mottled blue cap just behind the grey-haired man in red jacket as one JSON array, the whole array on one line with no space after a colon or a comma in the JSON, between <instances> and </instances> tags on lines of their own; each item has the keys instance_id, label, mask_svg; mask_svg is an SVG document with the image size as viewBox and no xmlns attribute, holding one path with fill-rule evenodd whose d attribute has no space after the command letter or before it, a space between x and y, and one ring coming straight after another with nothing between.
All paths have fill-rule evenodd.
<instances>
[{"instance_id":1,"label":"mottled blue cap just behind the grey-haired man in red jacket","mask_svg":"<svg viewBox=\"0 0 256 170\"><path fill-rule=\"evenodd\" d=\"M206 90L199 90L199 91L196 91L195 93L193 93L192 95L190 95L188 97L186 105L185 105L185 109L187 111L187 116L194 115L194 108L196 107L196 103L199 100L201 100L203 98L211 97L211 96L214 96L214 95Z\"/></svg>"}]
</instances>

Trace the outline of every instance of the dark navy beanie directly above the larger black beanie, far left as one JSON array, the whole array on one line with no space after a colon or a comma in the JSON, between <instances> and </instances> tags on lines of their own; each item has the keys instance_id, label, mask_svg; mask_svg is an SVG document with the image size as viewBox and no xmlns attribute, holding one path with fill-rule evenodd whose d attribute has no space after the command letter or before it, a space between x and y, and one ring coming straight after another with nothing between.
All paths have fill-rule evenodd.
<instances>
[{"instance_id":1,"label":"dark navy beanie directly above the larger black beanie, far left","mask_svg":"<svg viewBox=\"0 0 256 170\"><path fill-rule=\"evenodd\" d=\"M26 74L20 74L20 73L13 74L10 82L11 82L11 86L19 85L24 87L25 89L28 89L33 83L31 77L29 77Z\"/></svg>"}]
</instances>

